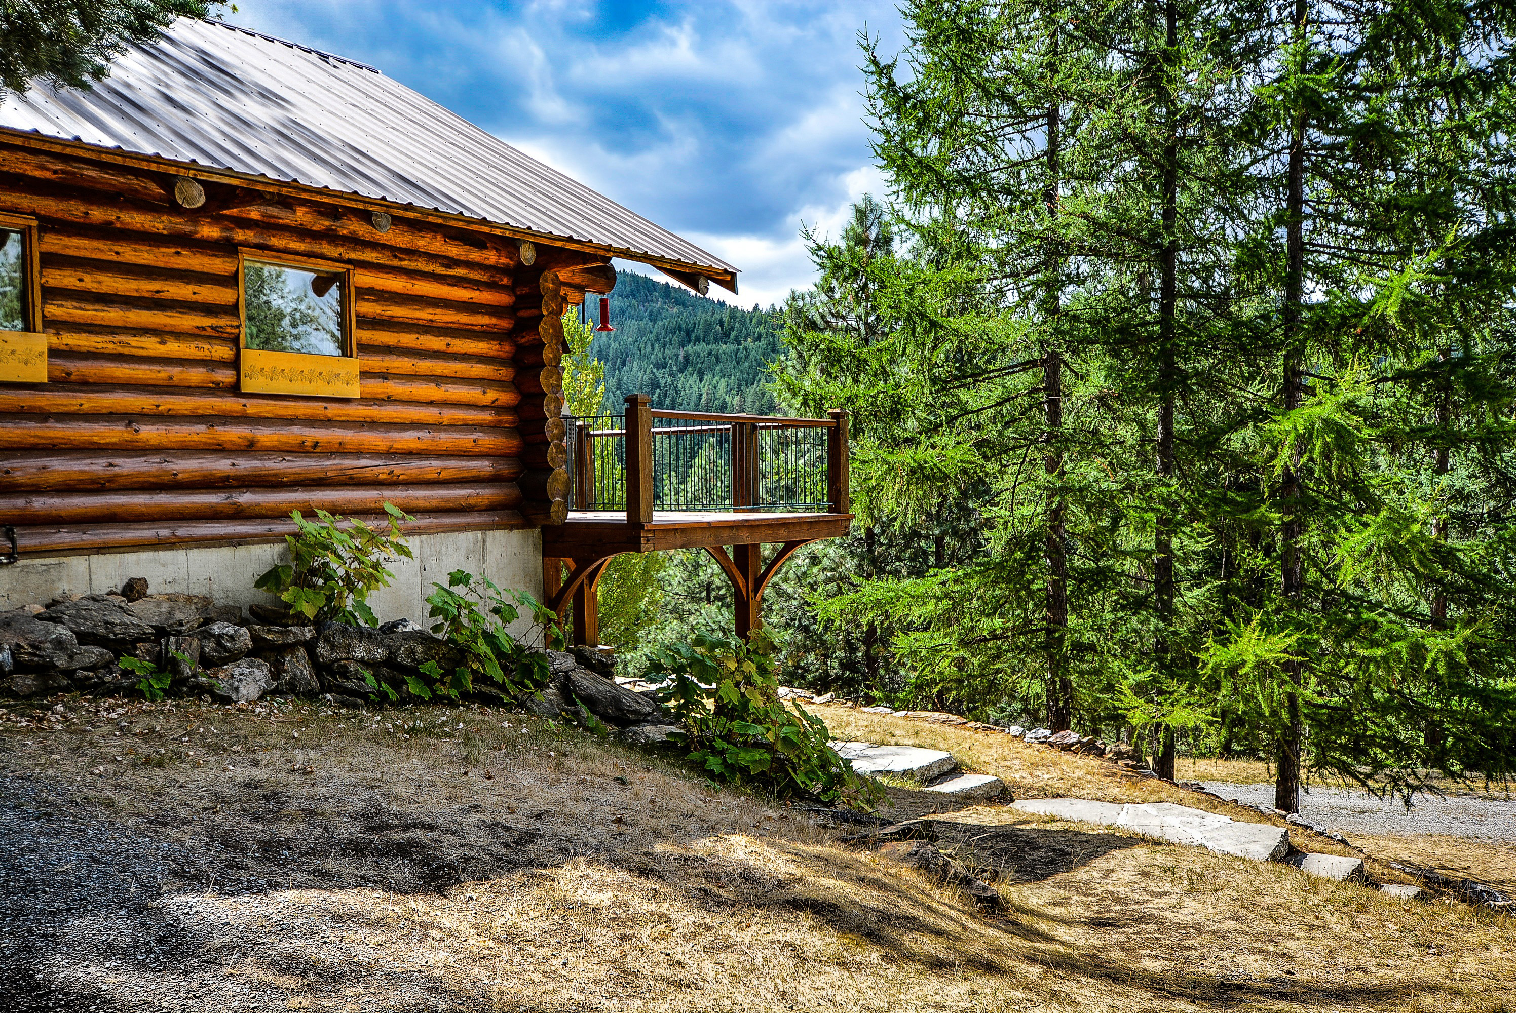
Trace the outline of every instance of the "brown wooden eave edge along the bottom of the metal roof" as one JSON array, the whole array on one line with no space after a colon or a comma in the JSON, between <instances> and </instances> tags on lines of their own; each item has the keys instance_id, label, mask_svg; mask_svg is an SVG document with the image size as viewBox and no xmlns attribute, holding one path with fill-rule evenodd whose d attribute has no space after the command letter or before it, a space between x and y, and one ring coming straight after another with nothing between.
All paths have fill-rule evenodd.
<instances>
[{"instance_id":1,"label":"brown wooden eave edge along the bottom of the metal roof","mask_svg":"<svg viewBox=\"0 0 1516 1013\"><path fill-rule=\"evenodd\" d=\"M99 144L89 144L86 141L70 141L64 138L47 136L45 133L36 133L33 130L0 127L0 141L8 141L12 144L18 144L21 147L56 152L59 155L91 158L100 162L111 162L114 165L129 165L132 168L146 168L159 173L190 176L193 179L203 179L214 183L235 183L238 187L247 187L252 190L265 190L268 193L276 193L290 197L341 200L344 205L353 208L362 208L365 211L384 211L387 214L399 214L406 218L414 218L417 221L431 221L435 224L450 224L464 229L475 229L478 232L488 232L491 235L502 235L512 240L531 240L532 243L541 243L544 246L558 246L568 250L581 250L584 253L597 253L600 256L619 256L626 261L635 261L638 264L647 264L649 267L656 267L662 273L684 282L685 285L690 285L691 288L694 285L691 285L691 282L687 279L703 276L711 279L722 288L726 288L734 294L737 293L737 271L716 267L711 264L691 264L690 261L652 256L649 253L643 253L638 250L605 246L602 243L587 243L584 240L575 240L572 237L553 235L552 232L538 232L535 229L523 229L518 226L500 224L499 221L490 221L488 218L476 218L473 215L458 214L452 211L438 211L437 208L421 208L418 205L400 203L396 200L365 197L364 194L355 194L346 190L311 187L308 183L291 183L282 179L270 179L268 176L258 176L253 173L238 173L230 168L214 168L202 165L199 162L180 162L171 158L162 158L159 155L143 155L138 152L127 152L118 147L102 147Z\"/></svg>"}]
</instances>

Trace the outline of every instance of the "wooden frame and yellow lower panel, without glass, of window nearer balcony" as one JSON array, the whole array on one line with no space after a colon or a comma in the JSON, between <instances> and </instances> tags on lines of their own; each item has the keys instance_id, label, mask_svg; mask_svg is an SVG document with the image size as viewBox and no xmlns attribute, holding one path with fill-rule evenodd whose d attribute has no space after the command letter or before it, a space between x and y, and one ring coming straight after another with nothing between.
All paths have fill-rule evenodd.
<instances>
[{"instance_id":1,"label":"wooden frame and yellow lower panel, without glass, of window nearer balcony","mask_svg":"<svg viewBox=\"0 0 1516 1013\"><path fill-rule=\"evenodd\" d=\"M290 267L315 274L338 274L343 287L343 353L315 355L311 352L268 352L247 347L247 261L270 267ZM299 394L303 397L359 397L358 367L358 294L353 281L358 271L350 264L318 261L294 253L270 253L268 250L236 250L236 314L241 318L238 332L236 373L238 387L247 394Z\"/></svg>"}]
</instances>

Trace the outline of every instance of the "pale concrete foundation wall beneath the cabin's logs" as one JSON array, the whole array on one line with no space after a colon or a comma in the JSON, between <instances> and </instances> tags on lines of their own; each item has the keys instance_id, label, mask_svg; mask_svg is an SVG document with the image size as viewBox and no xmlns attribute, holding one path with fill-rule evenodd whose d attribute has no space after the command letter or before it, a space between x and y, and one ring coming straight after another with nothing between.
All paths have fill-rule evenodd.
<instances>
[{"instance_id":1,"label":"pale concrete foundation wall beneath the cabin's logs","mask_svg":"<svg viewBox=\"0 0 1516 1013\"><path fill-rule=\"evenodd\" d=\"M537 529L461 531L411 535L414 560L390 564L394 581L376 591L368 605L381 622L411 619L428 625L426 596L432 582L447 584L453 570L487 576L502 590L543 596L543 538ZM59 594L105 594L120 590L133 576L147 579L150 593L209 594L220 604L247 607L274 604L271 594L253 590L253 581L276 563L288 563L283 543L209 549L153 549L56 558L23 557L0 566L0 611L33 602L45 605ZM531 629L529 617L511 632Z\"/></svg>"}]
</instances>

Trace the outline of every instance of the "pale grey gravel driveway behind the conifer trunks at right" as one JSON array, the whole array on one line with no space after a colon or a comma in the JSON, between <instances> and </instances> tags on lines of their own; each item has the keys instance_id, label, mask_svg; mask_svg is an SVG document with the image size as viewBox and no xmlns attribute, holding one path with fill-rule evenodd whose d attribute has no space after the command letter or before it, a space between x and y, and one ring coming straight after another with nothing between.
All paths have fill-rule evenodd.
<instances>
[{"instance_id":1,"label":"pale grey gravel driveway behind the conifer trunks at right","mask_svg":"<svg viewBox=\"0 0 1516 1013\"><path fill-rule=\"evenodd\" d=\"M1272 784L1210 781L1207 790L1243 805L1273 805ZM1301 792L1301 817L1340 834L1451 834L1475 840L1516 840L1516 801L1469 796L1416 796L1407 811L1399 799L1316 787Z\"/></svg>"}]
</instances>

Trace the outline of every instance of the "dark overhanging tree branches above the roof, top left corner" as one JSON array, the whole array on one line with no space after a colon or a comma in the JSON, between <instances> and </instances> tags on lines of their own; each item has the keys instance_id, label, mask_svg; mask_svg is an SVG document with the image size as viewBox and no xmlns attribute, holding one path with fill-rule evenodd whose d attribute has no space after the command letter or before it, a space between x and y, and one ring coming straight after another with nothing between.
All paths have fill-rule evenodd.
<instances>
[{"instance_id":1,"label":"dark overhanging tree branches above the roof, top left corner","mask_svg":"<svg viewBox=\"0 0 1516 1013\"><path fill-rule=\"evenodd\" d=\"M0 8L0 83L26 91L30 79L88 88L127 45L150 42L177 17L203 18L203 0L24 0Z\"/></svg>"}]
</instances>

